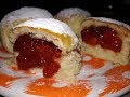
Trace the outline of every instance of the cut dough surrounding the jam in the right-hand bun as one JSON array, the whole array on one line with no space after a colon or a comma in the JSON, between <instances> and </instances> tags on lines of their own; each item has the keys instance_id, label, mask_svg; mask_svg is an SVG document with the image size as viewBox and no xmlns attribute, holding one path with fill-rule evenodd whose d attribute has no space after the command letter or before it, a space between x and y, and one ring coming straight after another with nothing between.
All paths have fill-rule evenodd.
<instances>
[{"instance_id":1,"label":"cut dough surrounding the jam in the right-hand bun","mask_svg":"<svg viewBox=\"0 0 130 97\"><path fill-rule=\"evenodd\" d=\"M92 46L92 45L86 44L84 42L83 42L82 51L98 58L113 61L116 65L128 64L130 60L130 30L129 28L125 27L125 25L122 24L120 25L120 23L115 24L115 23L109 23L105 20L88 18L82 23L81 29L84 29L91 25L95 27L107 26L116 30L118 32L118 37L121 38L122 40L121 51L119 53L115 53L114 51L103 48L100 45Z\"/></svg>"}]
</instances>

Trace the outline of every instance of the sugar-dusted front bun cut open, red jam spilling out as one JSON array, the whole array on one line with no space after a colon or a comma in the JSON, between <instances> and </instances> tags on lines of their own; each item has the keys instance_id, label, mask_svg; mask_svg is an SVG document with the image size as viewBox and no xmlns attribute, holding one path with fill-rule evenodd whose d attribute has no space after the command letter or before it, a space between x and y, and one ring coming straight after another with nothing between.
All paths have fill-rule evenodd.
<instances>
[{"instance_id":1,"label":"sugar-dusted front bun cut open, red jam spilling out","mask_svg":"<svg viewBox=\"0 0 130 97\"><path fill-rule=\"evenodd\" d=\"M47 78L75 81L81 66L80 45L65 23L54 18L30 19L15 26L9 34L18 69L40 73L43 69Z\"/></svg>"}]
</instances>

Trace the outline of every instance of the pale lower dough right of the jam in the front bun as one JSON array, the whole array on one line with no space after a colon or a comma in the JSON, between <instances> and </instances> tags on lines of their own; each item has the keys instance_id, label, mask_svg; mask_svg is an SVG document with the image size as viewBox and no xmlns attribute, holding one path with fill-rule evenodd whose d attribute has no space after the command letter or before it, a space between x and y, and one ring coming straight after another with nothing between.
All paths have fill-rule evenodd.
<instances>
[{"instance_id":1,"label":"pale lower dough right of the jam in the front bun","mask_svg":"<svg viewBox=\"0 0 130 97\"><path fill-rule=\"evenodd\" d=\"M77 51L72 51L61 57L61 68L54 75L57 80L69 82L76 81L76 75L81 68L81 55Z\"/></svg>"}]
</instances>

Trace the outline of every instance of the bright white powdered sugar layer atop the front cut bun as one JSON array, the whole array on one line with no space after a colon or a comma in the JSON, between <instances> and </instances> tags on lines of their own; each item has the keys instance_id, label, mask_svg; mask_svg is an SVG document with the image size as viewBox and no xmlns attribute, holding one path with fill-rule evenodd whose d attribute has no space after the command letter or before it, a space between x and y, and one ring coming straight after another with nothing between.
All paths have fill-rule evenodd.
<instances>
[{"instance_id":1,"label":"bright white powdered sugar layer atop the front cut bun","mask_svg":"<svg viewBox=\"0 0 130 97\"><path fill-rule=\"evenodd\" d=\"M28 26L28 27L34 27L34 28L44 28L44 29L52 30L55 33L60 33L64 36L69 34L74 39L75 43L78 42L78 38L73 32L70 27L66 25L65 23L54 19L54 18L30 19L30 20L26 20L25 23L17 25L16 27L22 27L22 26Z\"/></svg>"}]
</instances>

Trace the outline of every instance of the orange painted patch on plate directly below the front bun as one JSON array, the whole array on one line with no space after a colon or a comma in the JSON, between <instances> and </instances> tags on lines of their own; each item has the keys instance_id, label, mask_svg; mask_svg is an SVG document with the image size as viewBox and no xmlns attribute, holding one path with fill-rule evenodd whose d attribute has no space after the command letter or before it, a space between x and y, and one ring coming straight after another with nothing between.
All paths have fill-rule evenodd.
<instances>
[{"instance_id":1,"label":"orange painted patch on plate directly below the front bun","mask_svg":"<svg viewBox=\"0 0 130 97\"><path fill-rule=\"evenodd\" d=\"M38 83L44 83L43 85L38 85ZM72 85L65 87L53 87L54 83L51 79L38 79L32 82L28 87L26 93L34 94L38 96L47 96L47 97L84 97L89 89L87 89L84 84L80 85Z\"/></svg>"}]
</instances>

